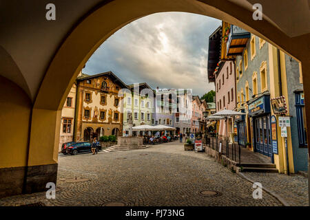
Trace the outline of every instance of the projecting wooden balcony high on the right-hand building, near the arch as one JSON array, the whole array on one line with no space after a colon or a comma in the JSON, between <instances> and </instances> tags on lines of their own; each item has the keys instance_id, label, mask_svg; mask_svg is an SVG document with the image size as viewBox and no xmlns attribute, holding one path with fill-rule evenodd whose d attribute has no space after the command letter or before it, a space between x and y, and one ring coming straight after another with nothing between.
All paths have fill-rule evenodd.
<instances>
[{"instance_id":1,"label":"projecting wooden balcony high on the right-hand building, near the arch","mask_svg":"<svg viewBox=\"0 0 310 220\"><path fill-rule=\"evenodd\" d=\"M226 43L226 56L242 55L250 37L250 32L236 25L230 25L230 32Z\"/></svg>"}]
</instances>

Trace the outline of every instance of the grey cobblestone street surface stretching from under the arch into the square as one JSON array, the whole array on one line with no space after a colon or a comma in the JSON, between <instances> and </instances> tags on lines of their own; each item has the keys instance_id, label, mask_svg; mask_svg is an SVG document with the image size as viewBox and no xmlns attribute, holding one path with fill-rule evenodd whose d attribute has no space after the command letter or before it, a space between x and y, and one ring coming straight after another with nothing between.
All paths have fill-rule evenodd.
<instances>
[{"instance_id":1,"label":"grey cobblestone street surface stretching from under the arch into the square","mask_svg":"<svg viewBox=\"0 0 310 220\"><path fill-rule=\"evenodd\" d=\"M297 187L297 181L287 186ZM203 192L208 190L216 192ZM0 199L0 206L39 201L45 206L282 206L265 191L262 199L254 199L253 190L205 153L184 151L172 142L136 151L60 155L56 199L39 192ZM299 200L297 205L304 204Z\"/></svg>"}]
</instances>

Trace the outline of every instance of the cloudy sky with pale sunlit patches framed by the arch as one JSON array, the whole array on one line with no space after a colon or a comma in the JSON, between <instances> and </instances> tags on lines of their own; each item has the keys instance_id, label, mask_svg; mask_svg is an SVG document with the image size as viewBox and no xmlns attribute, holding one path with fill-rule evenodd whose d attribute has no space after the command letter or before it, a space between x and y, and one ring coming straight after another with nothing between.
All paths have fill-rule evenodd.
<instances>
[{"instance_id":1,"label":"cloudy sky with pale sunlit patches framed by the arch","mask_svg":"<svg viewBox=\"0 0 310 220\"><path fill-rule=\"evenodd\" d=\"M110 36L86 63L83 73L112 71L124 83L153 89L214 89L207 80L208 37L221 22L183 12L151 14Z\"/></svg>"}]
</instances>

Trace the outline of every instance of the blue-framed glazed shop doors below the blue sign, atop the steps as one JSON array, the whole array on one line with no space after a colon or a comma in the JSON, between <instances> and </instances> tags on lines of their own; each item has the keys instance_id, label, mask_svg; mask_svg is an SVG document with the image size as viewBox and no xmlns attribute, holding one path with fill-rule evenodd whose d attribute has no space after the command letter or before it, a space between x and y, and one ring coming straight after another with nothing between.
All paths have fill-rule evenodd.
<instances>
[{"instance_id":1,"label":"blue-framed glazed shop doors below the blue sign, atop the steps","mask_svg":"<svg viewBox=\"0 0 310 220\"><path fill-rule=\"evenodd\" d=\"M255 151L272 157L270 117L265 115L254 119Z\"/></svg>"}]
</instances>

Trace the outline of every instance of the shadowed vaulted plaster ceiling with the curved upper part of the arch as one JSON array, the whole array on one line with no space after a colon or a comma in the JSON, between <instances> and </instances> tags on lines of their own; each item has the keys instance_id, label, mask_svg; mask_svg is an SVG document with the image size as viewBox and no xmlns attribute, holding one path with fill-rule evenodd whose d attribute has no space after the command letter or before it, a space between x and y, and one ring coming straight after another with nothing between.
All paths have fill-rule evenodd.
<instances>
[{"instance_id":1,"label":"shadowed vaulted plaster ceiling with the curved upper part of the arch","mask_svg":"<svg viewBox=\"0 0 310 220\"><path fill-rule=\"evenodd\" d=\"M56 21L45 19L48 3L47 0L0 2L0 75L19 85L43 109L59 109L68 85L83 67L81 63L123 25L148 14L178 11L223 19L263 37L296 58L300 58L296 51L302 47L295 48L294 42L309 40L307 0L54 0ZM251 19L254 3L262 4L263 21ZM51 81L52 78L62 79L65 84ZM42 104L51 89L59 91L61 98L52 100L50 96L51 103Z\"/></svg>"}]
</instances>

